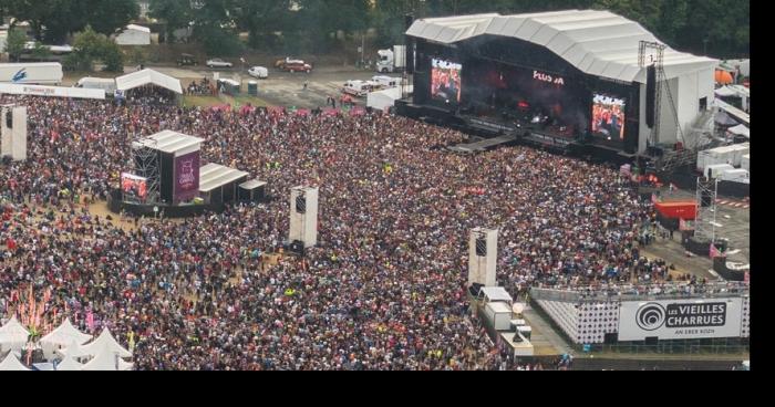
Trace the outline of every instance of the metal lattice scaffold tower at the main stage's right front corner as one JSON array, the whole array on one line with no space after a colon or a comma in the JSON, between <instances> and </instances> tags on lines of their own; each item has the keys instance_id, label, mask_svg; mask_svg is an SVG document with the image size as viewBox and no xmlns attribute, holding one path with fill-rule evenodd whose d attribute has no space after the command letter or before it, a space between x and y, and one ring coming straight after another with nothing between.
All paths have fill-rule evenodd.
<instances>
[{"instance_id":1,"label":"metal lattice scaffold tower at the main stage's right front corner","mask_svg":"<svg viewBox=\"0 0 775 407\"><path fill-rule=\"evenodd\" d=\"M651 135L649 136L649 145L657 146L660 142L660 127L661 127L661 112L662 112L662 94L666 93L668 101L670 102L671 114L675 121L675 129L678 132L678 140L685 144L683 139L683 132L678 121L678 109L675 108L675 101L673 101L673 94L670 91L670 83L666 80L664 73L664 50L666 45L653 41L641 41L638 50L638 66L645 67L647 65L653 64L657 71L657 83L654 83L655 95L654 95L654 126L651 128Z\"/></svg>"}]
</instances>

